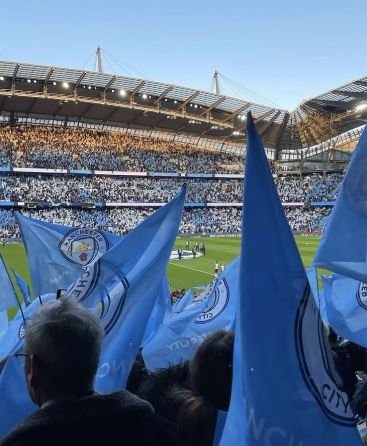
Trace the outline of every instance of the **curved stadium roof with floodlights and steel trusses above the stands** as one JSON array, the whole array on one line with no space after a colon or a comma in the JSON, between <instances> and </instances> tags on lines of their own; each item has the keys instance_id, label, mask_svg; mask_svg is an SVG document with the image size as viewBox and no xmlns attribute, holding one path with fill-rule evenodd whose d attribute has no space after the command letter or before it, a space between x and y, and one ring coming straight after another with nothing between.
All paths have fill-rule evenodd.
<instances>
[{"instance_id":1,"label":"curved stadium roof with floodlights and steel trusses above the stands","mask_svg":"<svg viewBox=\"0 0 367 446\"><path fill-rule=\"evenodd\" d=\"M361 126L367 78L304 101L295 111L192 88L80 69L0 61L0 114L65 125L126 128L194 137L241 151L251 111L271 156L320 145ZM4 118L3 118L4 119ZM328 126L328 133L321 128ZM305 130L306 129L306 130ZM149 135L149 134L148 134ZM269 153L268 153L269 155Z\"/></svg>"}]
</instances>

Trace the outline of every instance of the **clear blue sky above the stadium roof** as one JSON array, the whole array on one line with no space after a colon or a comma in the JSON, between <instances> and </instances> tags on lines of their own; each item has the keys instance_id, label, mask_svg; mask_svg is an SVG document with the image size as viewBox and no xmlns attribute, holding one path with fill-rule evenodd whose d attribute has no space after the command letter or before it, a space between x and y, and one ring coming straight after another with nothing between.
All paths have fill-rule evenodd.
<instances>
[{"instance_id":1,"label":"clear blue sky above the stadium roof","mask_svg":"<svg viewBox=\"0 0 367 446\"><path fill-rule=\"evenodd\" d=\"M367 75L366 0L1 0L0 15L0 58L81 68L99 44L150 79L208 90L217 69L289 110Z\"/></svg>"}]
</instances>

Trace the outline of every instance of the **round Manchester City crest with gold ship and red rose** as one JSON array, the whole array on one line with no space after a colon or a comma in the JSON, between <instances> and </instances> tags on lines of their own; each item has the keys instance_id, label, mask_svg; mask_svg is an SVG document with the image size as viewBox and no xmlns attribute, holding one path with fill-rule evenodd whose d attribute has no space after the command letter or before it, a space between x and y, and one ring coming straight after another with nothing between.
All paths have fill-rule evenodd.
<instances>
[{"instance_id":1,"label":"round Manchester City crest with gold ship and red rose","mask_svg":"<svg viewBox=\"0 0 367 446\"><path fill-rule=\"evenodd\" d=\"M108 241L101 231L76 228L64 236L59 250L70 262L87 267L108 250Z\"/></svg>"}]
</instances>

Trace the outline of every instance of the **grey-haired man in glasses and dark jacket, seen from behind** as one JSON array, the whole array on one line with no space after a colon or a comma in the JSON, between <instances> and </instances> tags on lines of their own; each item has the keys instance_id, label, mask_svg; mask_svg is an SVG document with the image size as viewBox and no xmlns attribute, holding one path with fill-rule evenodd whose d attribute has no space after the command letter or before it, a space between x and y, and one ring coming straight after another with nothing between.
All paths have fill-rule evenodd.
<instances>
[{"instance_id":1,"label":"grey-haired man in glasses and dark jacket, seen from behind","mask_svg":"<svg viewBox=\"0 0 367 446\"><path fill-rule=\"evenodd\" d=\"M126 390L94 391L104 330L70 298L42 305L25 326L24 372L40 409L0 440L8 445L176 445L173 426Z\"/></svg>"}]
</instances>

